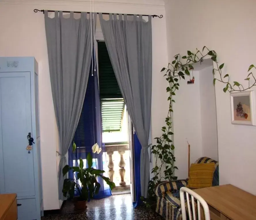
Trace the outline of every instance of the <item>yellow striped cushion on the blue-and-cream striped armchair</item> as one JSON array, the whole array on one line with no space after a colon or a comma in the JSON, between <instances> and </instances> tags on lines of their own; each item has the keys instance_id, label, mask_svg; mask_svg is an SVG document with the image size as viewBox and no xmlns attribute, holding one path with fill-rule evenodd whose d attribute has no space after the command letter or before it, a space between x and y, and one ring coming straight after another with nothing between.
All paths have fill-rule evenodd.
<instances>
[{"instance_id":1,"label":"yellow striped cushion on the blue-and-cream striped armchair","mask_svg":"<svg viewBox=\"0 0 256 220\"><path fill-rule=\"evenodd\" d=\"M215 163L191 164L188 188L204 188L212 186Z\"/></svg>"}]
</instances>

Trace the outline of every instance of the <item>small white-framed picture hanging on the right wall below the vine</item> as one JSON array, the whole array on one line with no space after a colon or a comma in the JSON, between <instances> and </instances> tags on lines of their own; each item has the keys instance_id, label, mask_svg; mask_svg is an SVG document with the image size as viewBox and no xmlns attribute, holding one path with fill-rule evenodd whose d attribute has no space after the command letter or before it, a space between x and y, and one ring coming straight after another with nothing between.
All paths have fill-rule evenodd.
<instances>
[{"instance_id":1,"label":"small white-framed picture hanging on the right wall below the vine","mask_svg":"<svg viewBox=\"0 0 256 220\"><path fill-rule=\"evenodd\" d=\"M232 124L256 125L255 98L255 90L230 93Z\"/></svg>"}]
</instances>

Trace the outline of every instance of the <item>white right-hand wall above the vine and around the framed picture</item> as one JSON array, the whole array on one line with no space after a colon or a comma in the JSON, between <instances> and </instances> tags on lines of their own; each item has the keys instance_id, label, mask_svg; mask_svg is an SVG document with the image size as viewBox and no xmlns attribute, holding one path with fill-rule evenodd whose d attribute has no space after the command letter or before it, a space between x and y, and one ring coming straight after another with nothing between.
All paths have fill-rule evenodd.
<instances>
[{"instance_id":1,"label":"white right-hand wall above the vine and around the framed picture","mask_svg":"<svg viewBox=\"0 0 256 220\"><path fill-rule=\"evenodd\" d=\"M248 66L256 62L255 7L253 0L167 1L169 60L176 53L207 46L217 52L219 63L225 62L223 74L230 74L231 82L244 82ZM216 82L220 184L256 194L256 127L231 124L230 95L222 88Z\"/></svg>"}]
</instances>

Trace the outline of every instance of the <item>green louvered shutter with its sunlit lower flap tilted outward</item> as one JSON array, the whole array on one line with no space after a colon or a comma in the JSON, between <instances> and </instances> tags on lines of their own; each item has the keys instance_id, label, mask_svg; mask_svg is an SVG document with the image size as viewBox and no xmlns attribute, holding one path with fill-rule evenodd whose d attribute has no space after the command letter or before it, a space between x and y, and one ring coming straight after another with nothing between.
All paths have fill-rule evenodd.
<instances>
[{"instance_id":1,"label":"green louvered shutter with its sunlit lower flap tilted outward","mask_svg":"<svg viewBox=\"0 0 256 220\"><path fill-rule=\"evenodd\" d=\"M125 103L102 41L98 42L98 66L103 132L120 131Z\"/></svg>"}]
</instances>

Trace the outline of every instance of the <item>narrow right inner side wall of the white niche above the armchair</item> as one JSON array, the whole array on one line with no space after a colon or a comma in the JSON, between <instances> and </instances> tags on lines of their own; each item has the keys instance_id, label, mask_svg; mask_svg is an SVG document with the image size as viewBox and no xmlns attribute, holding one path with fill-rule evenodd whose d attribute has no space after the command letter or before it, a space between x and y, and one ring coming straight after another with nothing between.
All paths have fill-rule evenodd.
<instances>
[{"instance_id":1,"label":"narrow right inner side wall of the white niche above the armchair","mask_svg":"<svg viewBox=\"0 0 256 220\"><path fill-rule=\"evenodd\" d=\"M201 70L199 77L202 156L218 161L216 101L212 70L212 66Z\"/></svg>"}]
</instances>

